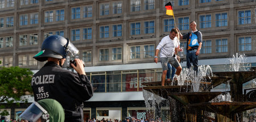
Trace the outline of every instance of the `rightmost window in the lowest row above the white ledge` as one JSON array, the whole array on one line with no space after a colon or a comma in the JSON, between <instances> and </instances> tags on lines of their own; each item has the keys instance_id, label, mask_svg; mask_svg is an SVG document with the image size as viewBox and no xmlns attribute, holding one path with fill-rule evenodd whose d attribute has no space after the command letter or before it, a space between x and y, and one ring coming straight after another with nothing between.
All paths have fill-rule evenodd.
<instances>
[{"instance_id":1,"label":"rightmost window in the lowest row above the white ledge","mask_svg":"<svg viewBox=\"0 0 256 122\"><path fill-rule=\"evenodd\" d=\"M239 51L251 51L251 37L240 37Z\"/></svg>"}]
</instances>

